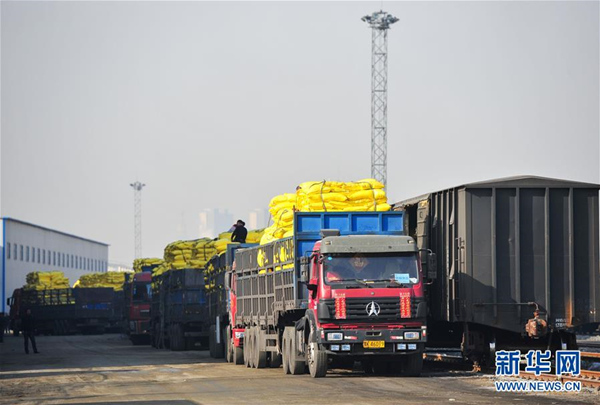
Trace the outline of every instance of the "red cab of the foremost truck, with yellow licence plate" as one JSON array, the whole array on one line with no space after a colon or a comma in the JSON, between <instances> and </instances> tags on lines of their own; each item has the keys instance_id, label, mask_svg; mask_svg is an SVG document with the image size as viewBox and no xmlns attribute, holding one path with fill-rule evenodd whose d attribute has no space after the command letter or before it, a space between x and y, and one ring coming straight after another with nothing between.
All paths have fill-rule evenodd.
<instances>
[{"instance_id":1,"label":"red cab of the foremost truck, with yellow licence plate","mask_svg":"<svg viewBox=\"0 0 600 405\"><path fill-rule=\"evenodd\" d=\"M367 372L420 373L427 304L412 238L326 236L303 262L315 334L309 364L322 352L360 359Z\"/></svg>"}]
</instances>

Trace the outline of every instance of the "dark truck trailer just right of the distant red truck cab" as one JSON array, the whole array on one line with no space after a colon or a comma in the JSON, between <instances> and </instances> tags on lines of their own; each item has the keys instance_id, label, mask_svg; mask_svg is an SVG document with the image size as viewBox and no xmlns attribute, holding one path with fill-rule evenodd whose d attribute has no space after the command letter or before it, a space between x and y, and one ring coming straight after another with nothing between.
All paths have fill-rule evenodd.
<instances>
[{"instance_id":1,"label":"dark truck trailer just right of the distant red truck cab","mask_svg":"<svg viewBox=\"0 0 600 405\"><path fill-rule=\"evenodd\" d=\"M169 270L152 276L152 346L173 351L208 346L208 318L202 269Z\"/></svg>"}]
</instances>

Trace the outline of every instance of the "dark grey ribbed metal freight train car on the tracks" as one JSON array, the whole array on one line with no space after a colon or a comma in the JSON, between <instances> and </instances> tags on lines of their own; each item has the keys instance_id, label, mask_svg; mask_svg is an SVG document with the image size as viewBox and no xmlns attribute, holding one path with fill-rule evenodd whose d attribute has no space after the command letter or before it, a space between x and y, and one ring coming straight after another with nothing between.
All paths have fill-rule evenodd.
<instances>
[{"instance_id":1,"label":"dark grey ribbed metal freight train car on the tracks","mask_svg":"<svg viewBox=\"0 0 600 405\"><path fill-rule=\"evenodd\" d=\"M437 257L424 269L429 345L476 361L500 348L575 347L571 328L600 321L599 188L526 176L395 204Z\"/></svg>"}]
</instances>

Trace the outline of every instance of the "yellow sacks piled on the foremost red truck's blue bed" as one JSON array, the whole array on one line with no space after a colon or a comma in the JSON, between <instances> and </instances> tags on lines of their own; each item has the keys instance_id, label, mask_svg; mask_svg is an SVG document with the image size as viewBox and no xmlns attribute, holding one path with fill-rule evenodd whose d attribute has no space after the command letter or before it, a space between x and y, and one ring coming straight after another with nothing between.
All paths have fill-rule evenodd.
<instances>
[{"instance_id":1,"label":"yellow sacks piled on the foremost red truck's blue bed","mask_svg":"<svg viewBox=\"0 0 600 405\"><path fill-rule=\"evenodd\" d=\"M269 203L273 225L265 229L261 245L293 235L294 211L389 211L383 184L374 179L352 182L308 181L295 194L282 194Z\"/></svg>"}]
</instances>

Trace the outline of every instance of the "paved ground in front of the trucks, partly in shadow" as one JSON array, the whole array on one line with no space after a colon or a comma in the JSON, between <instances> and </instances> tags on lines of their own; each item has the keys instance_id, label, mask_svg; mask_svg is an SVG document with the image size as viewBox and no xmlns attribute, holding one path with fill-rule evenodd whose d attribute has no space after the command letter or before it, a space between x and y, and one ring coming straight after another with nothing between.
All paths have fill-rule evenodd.
<instances>
[{"instance_id":1,"label":"paved ground in front of the trucks, partly in shadow","mask_svg":"<svg viewBox=\"0 0 600 405\"><path fill-rule=\"evenodd\" d=\"M428 368L421 378L334 370L326 378L247 369L203 352L131 346L119 335L21 338L0 344L1 404L431 404L598 403L596 393L496 393L491 377Z\"/></svg>"}]
</instances>

